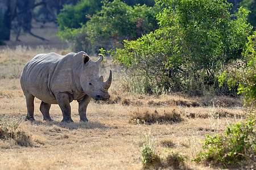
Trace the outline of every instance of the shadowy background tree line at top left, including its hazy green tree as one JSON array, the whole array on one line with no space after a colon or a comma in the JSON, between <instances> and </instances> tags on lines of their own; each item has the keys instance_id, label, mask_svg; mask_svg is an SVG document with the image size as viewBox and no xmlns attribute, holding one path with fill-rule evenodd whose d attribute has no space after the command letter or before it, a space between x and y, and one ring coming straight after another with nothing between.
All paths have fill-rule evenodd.
<instances>
[{"instance_id":1,"label":"shadowy background tree line at top left, including its hazy green tree","mask_svg":"<svg viewBox=\"0 0 256 170\"><path fill-rule=\"evenodd\" d=\"M154 5L154 0L130 0L126 2L132 6L137 3L146 3L148 6ZM86 23L89 20L85 17L86 15L95 14L97 10L100 10L101 6L101 1L92 0L1 0L0 41L3 43L3 40L10 40L11 29L15 29L17 41L22 29L24 32L36 36L31 32L32 19L44 24L46 22L57 22L57 16L60 15L59 23L62 25L60 29L63 25L78 28L80 23ZM75 18L70 18L71 16L75 16ZM78 18L79 20L76 20ZM45 40L43 37L38 38Z\"/></svg>"}]
</instances>

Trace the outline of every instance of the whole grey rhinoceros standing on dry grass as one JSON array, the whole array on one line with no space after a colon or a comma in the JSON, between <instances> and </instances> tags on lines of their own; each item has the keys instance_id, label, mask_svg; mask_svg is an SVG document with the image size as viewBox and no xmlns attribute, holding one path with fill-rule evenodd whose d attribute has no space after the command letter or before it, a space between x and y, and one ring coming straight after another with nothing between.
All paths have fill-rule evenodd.
<instances>
[{"instance_id":1,"label":"whole grey rhinoceros standing on dry grass","mask_svg":"<svg viewBox=\"0 0 256 170\"><path fill-rule=\"evenodd\" d=\"M51 104L59 104L63 114L61 122L73 122L69 103L79 103L80 121L88 121L86 109L94 100L109 100L108 89L112 83L112 71L104 82L99 76L99 64L104 59L100 56L96 62L91 61L85 52L68 53L61 56L56 53L38 54L23 68L20 85L26 96L26 120L34 119L34 99L42 101L40 111L43 120L51 121L49 109Z\"/></svg>"}]
</instances>

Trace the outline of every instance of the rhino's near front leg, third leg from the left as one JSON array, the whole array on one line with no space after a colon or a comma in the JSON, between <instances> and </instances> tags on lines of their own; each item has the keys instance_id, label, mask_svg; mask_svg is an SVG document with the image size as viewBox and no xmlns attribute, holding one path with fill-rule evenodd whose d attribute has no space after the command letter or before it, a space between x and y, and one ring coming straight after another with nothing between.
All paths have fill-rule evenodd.
<instances>
[{"instance_id":1,"label":"rhino's near front leg, third leg from the left","mask_svg":"<svg viewBox=\"0 0 256 170\"><path fill-rule=\"evenodd\" d=\"M71 118L71 107L69 104L69 95L64 93L57 94L56 100L63 114L63 120L61 122L73 122Z\"/></svg>"}]
</instances>

